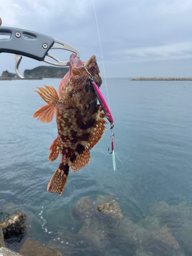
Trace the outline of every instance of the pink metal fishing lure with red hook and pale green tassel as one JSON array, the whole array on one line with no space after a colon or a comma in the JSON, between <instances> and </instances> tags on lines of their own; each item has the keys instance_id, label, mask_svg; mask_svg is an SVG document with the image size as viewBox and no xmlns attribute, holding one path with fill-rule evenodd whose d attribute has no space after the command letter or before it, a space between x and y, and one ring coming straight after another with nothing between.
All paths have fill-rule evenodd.
<instances>
[{"instance_id":1,"label":"pink metal fishing lure with red hook and pale green tassel","mask_svg":"<svg viewBox=\"0 0 192 256\"><path fill-rule=\"evenodd\" d=\"M117 156L117 154L115 153L114 151L114 146L113 146L113 139L115 138L115 133L114 133L114 123L113 123L113 117L112 117L112 114L111 114L111 111L110 109L108 108L108 105L106 104L106 101L102 95L102 93L100 92L99 88L97 87L97 84L94 82L93 78L92 78L92 75L88 72L88 68L86 66L86 64L84 63L83 64L83 68L86 70L86 72L88 73L89 75L89 78L90 78L90 83L91 83L91 86L93 86L93 89L97 95L97 98L99 100L99 103L101 104L102 108L103 108L103 112L104 114L106 115L106 118L108 118L109 122L110 122L110 129L111 129L111 138L112 138L112 143L111 143L111 146L112 146L112 152L110 153L109 152L109 148L108 148L108 152L110 154L112 154L112 161L113 161L113 169L116 170L117 167L116 167L116 161L115 161L115 155ZM118 156L117 156L118 158ZM119 159L119 158L118 158ZM119 161L121 162L121 160L119 159ZM122 163L122 162L121 162Z\"/></svg>"}]
</instances>

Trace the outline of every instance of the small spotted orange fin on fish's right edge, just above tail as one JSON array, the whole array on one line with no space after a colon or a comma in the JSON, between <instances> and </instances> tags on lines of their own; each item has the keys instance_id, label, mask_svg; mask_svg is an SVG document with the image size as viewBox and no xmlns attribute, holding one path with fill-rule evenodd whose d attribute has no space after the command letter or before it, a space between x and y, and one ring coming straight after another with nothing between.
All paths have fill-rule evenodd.
<instances>
[{"instance_id":1,"label":"small spotted orange fin on fish's right edge, just above tail","mask_svg":"<svg viewBox=\"0 0 192 256\"><path fill-rule=\"evenodd\" d=\"M76 159L70 166L71 172L77 172L77 170L83 168L91 161L90 152L88 148L85 148L82 153L77 155Z\"/></svg>"}]
</instances>

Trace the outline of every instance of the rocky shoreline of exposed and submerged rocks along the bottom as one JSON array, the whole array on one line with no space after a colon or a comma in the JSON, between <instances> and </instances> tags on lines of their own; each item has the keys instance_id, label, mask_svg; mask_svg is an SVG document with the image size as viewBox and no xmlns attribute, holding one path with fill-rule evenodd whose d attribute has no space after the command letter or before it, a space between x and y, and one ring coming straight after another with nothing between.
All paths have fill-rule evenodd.
<instances>
[{"instance_id":1,"label":"rocky shoreline of exposed and submerged rocks along the bottom","mask_svg":"<svg viewBox=\"0 0 192 256\"><path fill-rule=\"evenodd\" d=\"M173 206L160 201L142 216L134 203L122 212L117 201L114 195L99 195L95 200L82 197L72 208L77 232L58 229L47 246L28 236L15 252L5 248L7 239L30 233L26 214L17 212L0 222L0 255L74 256L82 251L94 256L113 255L114 251L129 256L192 254L192 208L186 202Z\"/></svg>"}]
</instances>

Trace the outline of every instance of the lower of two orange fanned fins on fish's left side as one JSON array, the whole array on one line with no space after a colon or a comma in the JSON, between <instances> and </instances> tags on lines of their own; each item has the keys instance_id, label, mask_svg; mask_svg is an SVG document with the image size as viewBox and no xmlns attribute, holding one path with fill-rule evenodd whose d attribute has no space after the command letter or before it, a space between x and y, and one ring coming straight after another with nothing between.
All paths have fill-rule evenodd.
<instances>
[{"instance_id":1,"label":"lower of two orange fanned fins on fish's left side","mask_svg":"<svg viewBox=\"0 0 192 256\"><path fill-rule=\"evenodd\" d=\"M39 122L41 123L50 123L55 114L55 110L55 106L52 106L50 104L41 106L41 108L35 112L33 118L38 117L37 121L39 120Z\"/></svg>"}]
</instances>

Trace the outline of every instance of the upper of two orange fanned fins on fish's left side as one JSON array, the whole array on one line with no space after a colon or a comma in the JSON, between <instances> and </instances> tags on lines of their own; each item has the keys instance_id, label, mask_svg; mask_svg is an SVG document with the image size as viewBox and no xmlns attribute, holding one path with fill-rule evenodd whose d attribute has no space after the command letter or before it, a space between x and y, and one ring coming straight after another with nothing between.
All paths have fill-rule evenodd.
<instances>
[{"instance_id":1,"label":"upper of two orange fanned fins on fish's left side","mask_svg":"<svg viewBox=\"0 0 192 256\"><path fill-rule=\"evenodd\" d=\"M68 108L68 104L63 100L59 100L59 96L56 90L53 87L45 86L45 88L38 88L40 92L37 92L42 99L45 100L46 103L55 106L59 109L66 109Z\"/></svg>"}]
</instances>

